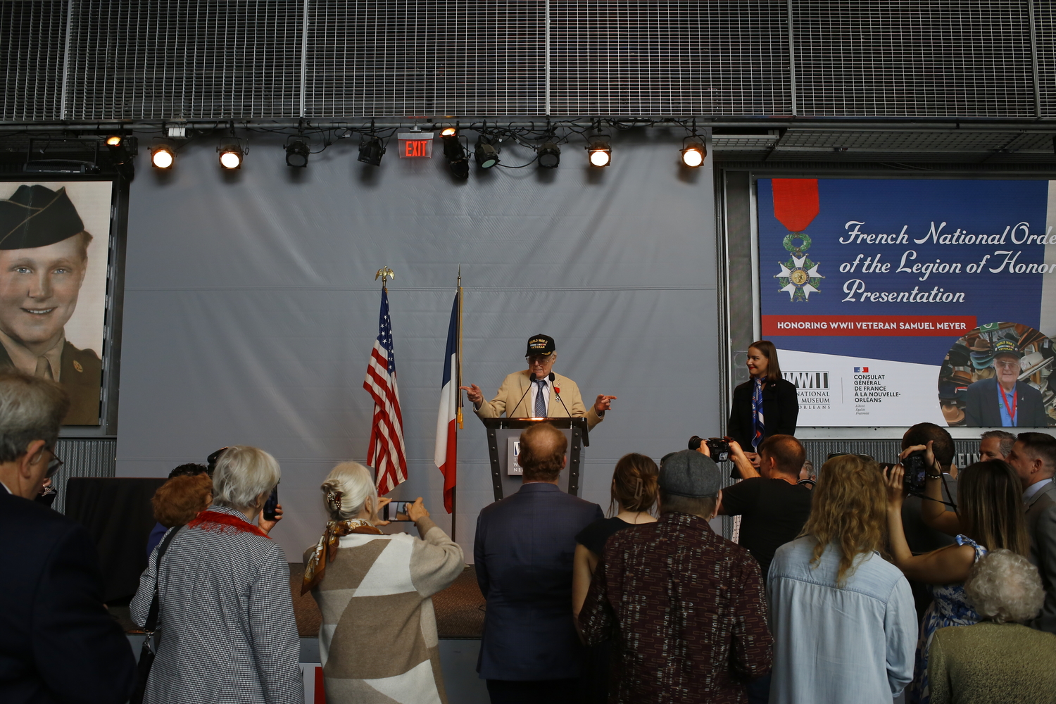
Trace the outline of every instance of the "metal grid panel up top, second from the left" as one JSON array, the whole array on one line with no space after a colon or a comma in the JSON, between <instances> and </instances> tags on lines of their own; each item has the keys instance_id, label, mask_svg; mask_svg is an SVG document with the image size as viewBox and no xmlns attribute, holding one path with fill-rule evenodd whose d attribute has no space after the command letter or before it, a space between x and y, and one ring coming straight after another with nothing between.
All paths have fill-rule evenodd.
<instances>
[{"instance_id":1,"label":"metal grid panel up top, second from the left","mask_svg":"<svg viewBox=\"0 0 1056 704\"><path fill-rule=\"evenodd\" d=\"M296 117L301 0L75 0L69 119Z\"/></svg>"}]
</instances>

